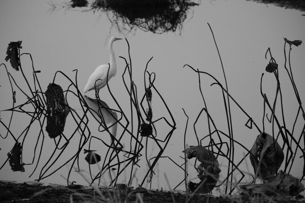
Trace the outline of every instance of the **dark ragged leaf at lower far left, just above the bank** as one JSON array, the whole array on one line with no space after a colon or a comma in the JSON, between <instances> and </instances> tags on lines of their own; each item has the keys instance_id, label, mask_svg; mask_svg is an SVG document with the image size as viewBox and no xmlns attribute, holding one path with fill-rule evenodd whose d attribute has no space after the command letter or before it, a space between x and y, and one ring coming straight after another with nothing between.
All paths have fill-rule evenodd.
<instances>
[{"instance_id":1,"label":"dark ragged leaf at lower far left, just above the bank","mask_svg":"<svg viewBox=\"0 0 305 203\"><path fill-rule=\"evenodd\" d=\"M21 150L22 146L20 142L16 142L12 151L7 154L9 157L9 165L13 171L24 172L24 163L21 163Z\"/></svg>"}]
</instances>

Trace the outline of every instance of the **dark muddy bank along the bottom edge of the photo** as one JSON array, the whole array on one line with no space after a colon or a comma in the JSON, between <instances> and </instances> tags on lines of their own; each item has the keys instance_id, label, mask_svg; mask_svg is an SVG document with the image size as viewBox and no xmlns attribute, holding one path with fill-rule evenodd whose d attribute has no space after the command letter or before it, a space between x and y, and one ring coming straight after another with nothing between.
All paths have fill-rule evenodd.
<instances>
[{"instance_id":1,"label":"dark muddy bank along the bottom edge of the photo","mask_svg":"<svg viewBox=\"0 0 305 203\"><path fill-rule=\"evenodd\" d=\"M81 185L44 185L39 182L24 182L17 183L11 181L0 181L0 202L139 202L137 195L133 189L117 190L114 188L99 187L101 194L98 194L93 187ZM104 201L102 201L104 200ZM105 201L106 200L106 201ZM246 195L231 197L229 195L223 197L216 197L209 194L194 194L190 196L187 192L169 192L148 190L143 193L144 202L149 203L167 203L167 202L207 202L207 203L228 203L228 202L251 202ZM189 201L188 201L189 200ZM286 201L287 200L287 201ZM300 202L294 201L290 198L282 202ZM303 199L305 200L305 199ZM259 200L258 202L268 202ZM303 201L301 201L303 202Z\"/></svg>"}]
</instances>

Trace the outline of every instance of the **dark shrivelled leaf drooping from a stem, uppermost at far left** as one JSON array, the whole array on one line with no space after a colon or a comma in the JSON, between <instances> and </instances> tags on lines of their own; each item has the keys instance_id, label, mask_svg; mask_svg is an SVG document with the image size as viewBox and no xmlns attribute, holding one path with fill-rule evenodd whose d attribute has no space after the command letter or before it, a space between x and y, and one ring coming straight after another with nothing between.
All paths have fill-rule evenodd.
<instances>
[{"instance_id":1,"label":"dark shrivelled leaf drooping from a stem, uppermost at far left","mask_svg":"<svg viewBox=\"0 0 305 203\"><path fill-rule=\"evenodd\" d=\"M10 42L9 46L7 47L6 54L7 56L5 57L5 61L10 61L12 67L16 70L19 71L19 66L20 66L20 61L19 61L19 52L18 48L22 48L21 45L22 41L18 42Z\"/></svg>"}]
</instances>

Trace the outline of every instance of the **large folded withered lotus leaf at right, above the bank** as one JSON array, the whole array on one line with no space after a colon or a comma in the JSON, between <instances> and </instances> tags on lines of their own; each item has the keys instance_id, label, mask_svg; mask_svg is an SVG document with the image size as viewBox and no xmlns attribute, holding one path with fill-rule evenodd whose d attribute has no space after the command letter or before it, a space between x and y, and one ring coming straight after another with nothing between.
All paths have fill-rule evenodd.
<instances>
[{"instance_id":1,"label":"large folded withered lotus leaf at right, above the bank","mask_svg":"<svg viewBox=\"0 0 305 203\"><path fill-rule=\"evenodd\" d=\"M258 170L258 177L263 180L274 176L284 160L281 146L265 132L257 136L250 152L254 172Z\"/></svg>"}]
</instances>

